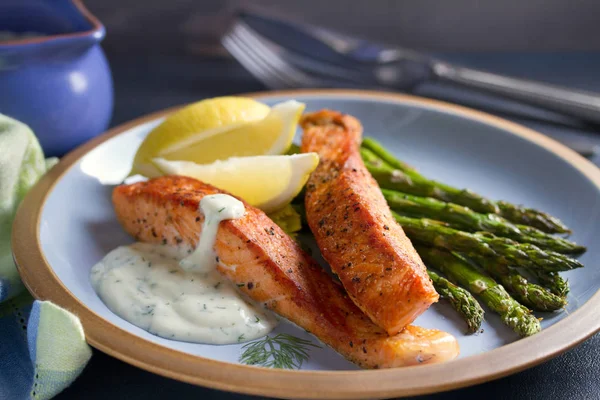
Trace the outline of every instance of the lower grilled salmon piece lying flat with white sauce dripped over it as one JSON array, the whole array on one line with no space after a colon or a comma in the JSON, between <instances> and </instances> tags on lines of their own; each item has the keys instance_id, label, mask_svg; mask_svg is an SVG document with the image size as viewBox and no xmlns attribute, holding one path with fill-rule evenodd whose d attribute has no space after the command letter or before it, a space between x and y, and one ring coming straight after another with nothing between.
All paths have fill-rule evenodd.
<instances>
[{"instance_id":1,"label":"lower grilled salmon piece lying flat with white sauce dripped over it","mask_svg":"<svg viewBox=\"0 0 600 400\"><path fill-rule=\"evenodd\" d=\"M137 240L166 245L198 243L202 197L224 193L196 179L166 176L118 186L117 218ZM408 326L389 337L333 279L262 211L220 223L214 246L218 270L250 298L314 334L363 368L438 363L458 354L456 339Z\"/></svg>"}]
</instances>

